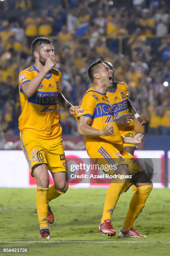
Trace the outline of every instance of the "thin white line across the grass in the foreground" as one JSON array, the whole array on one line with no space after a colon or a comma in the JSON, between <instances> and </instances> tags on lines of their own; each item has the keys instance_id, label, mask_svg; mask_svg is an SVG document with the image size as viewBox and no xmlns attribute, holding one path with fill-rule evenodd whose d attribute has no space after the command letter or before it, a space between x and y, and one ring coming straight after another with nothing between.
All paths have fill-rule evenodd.
<instances>
[{"instance_id":1,"label":"thin white line across the grass in the foreground","mask_svg":"<svg viewBox=\"0 0 170 256\"><path fill-rule=\"evenodd\" d=\"M131 238L133 239L133 238ZM121 240L121 239L120 239ZM155 244L170 244L170 242L160 241L0 241L0 244L13 244L13 243L155 243Z\"/></svg>"}]
</instances>

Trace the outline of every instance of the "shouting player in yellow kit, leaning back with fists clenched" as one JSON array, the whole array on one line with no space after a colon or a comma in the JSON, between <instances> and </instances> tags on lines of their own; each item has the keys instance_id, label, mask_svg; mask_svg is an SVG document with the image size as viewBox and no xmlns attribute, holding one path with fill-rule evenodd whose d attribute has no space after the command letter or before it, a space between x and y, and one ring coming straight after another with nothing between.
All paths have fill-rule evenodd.
<instances>
[{"instance_id":1,"label":"shouting player in yellow kit, leaning back with fists clenched","mask_svg":"<svg viewBox=\"0 0 170 256\"><path fill-rule=\"evenodd\" d=\"M138 144L143 140L141 133L133 138L120 135L119 128L114 119L112 105L106 96L107 89L111 87L112 70L100 59L88 68L88 75L92 87L87 90L80 101L77 110L79 117L78 131L85 136L88 155L95 159L95 164L116 164L117 169L112 174L121 174L123 179L115 179L107 189L105 205L99 232L108 236L115 236L111 223L111 214L122 191L135 184L137 191L130 201L129 210L120 230L120 237L145 237L134 228L133 223L145 206L152 182L145 171L130 153L125 151L123 143ZM128 175L132 175L132 179Z\"/></svg>"}]
</instances>

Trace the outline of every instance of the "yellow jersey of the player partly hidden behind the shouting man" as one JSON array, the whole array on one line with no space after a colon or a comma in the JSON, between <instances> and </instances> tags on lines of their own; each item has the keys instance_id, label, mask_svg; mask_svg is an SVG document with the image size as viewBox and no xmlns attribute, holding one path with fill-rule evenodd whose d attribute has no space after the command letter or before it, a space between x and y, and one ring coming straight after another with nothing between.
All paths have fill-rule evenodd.
<instances>
[{"instance_id":1,"label":"yellow jersey of the player partly hidden behind the shouting man","mask_svg":"<svg viewBox=\"0 0 170 256\"><path fill-rule=\"evenodd\" d=\"M114 110L114 118L120 118L121 116L128 114L128 85L125 82L115 82L115 90L107 90L107 97ZM128 125L118 125L120 132L127 127L134 127L133 120Z\"/></svg>"}]
</instances>

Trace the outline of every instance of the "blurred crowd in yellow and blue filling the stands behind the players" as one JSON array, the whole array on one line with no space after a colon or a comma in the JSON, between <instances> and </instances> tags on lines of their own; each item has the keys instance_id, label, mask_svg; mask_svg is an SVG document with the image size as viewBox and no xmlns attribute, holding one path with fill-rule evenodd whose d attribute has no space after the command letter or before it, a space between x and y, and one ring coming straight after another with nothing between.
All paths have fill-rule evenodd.
<instances>
[{"instance_id":1,"label":"blurred crowd in yellow and blue filling the stands behind the players","mask_svg":"<svg viewBox=\"0 0 170 256\"><path fill-rule=\"evenodd\" d=\"M127 82L130 99L147 116L145 133L170 134L169 0L0 1L0 134L18 135L18 73L33 64L37 36L54 40L61 90L78 105L89 88L87 67L100 58ZM63 134L76 121L60 109Z\"/></svg>"}]
</instances>

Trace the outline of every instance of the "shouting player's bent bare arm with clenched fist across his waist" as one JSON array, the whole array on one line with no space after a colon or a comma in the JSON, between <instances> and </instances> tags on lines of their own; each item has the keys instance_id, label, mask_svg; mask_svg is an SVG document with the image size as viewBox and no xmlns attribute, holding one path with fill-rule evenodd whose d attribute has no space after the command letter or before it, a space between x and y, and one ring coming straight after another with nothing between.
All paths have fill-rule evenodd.
<instances>
[{"instance_id":1,"label":"shouting player's bent bare arm with clenched fist across his waist","mask_svg":"<svg viewBox=\"0 0 170 256\"><path fill-rule=\"evenodd\" d=\"M90 126L92 119L87 116L81 116L79 118L78 132L82 136L88 137L98 137L98 136L107 136L114 133L112 125L106 125L102 130L95 129Z\"/></svg>"}]
</instances>

